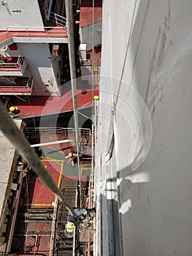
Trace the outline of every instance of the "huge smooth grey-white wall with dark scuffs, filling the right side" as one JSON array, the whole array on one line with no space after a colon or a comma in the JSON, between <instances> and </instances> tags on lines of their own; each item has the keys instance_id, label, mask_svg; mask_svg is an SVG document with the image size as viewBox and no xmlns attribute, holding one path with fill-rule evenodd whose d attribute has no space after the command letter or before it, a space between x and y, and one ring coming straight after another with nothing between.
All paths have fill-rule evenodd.
<instances>
[{"instance_id":1,"label":"huge smooth grey-white wall with dark scuffs, filling the right side","mask_svg":"<svg viewBox=\"0 0 192 256\"><path fill-rule=\"evenodd\" d=\"M188 0L104 1L96 198L112 199L116 173L122 255L192 254L191 11Z\"/></svg>"}]
</instances>

